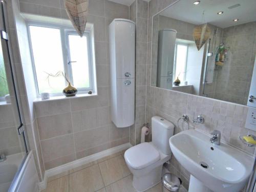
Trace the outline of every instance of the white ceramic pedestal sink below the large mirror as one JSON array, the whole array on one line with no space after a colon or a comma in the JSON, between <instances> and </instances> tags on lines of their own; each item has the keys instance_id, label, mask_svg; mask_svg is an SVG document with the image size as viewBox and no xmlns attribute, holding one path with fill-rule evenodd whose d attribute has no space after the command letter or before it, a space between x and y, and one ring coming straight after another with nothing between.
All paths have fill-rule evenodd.
<instances>
[{"instance_id":1,"label":"white ceramic pedestal sink below the large mirror","mask_svg":"<svg viewBox=\"0 0 256 192\"><path fill-rule=\"evenodd\" d=\"M209 140L210 136L196 130L169 139L173 155L191 174L189 192L241 190L252 172L254 158L226 143L215 145Z\"/></svg>"}]
</instances>

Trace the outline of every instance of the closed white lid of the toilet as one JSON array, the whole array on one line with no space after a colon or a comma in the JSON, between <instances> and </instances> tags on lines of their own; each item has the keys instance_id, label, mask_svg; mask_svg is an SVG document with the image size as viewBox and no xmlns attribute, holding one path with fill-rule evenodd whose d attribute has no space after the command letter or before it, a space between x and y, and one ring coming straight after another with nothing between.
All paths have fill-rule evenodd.
<instances>
[{"instance_id":1,"label":"closed white lid of the toilet","mask_svg":"<svg viewBox=\"0 0 256 192\"><path fill-rule=\"evenodd\" d=\"M124 154L126 163L134 169L142 169L160 160L160 154L150 143L135 145Z\"/></svg>"}]
</instances>

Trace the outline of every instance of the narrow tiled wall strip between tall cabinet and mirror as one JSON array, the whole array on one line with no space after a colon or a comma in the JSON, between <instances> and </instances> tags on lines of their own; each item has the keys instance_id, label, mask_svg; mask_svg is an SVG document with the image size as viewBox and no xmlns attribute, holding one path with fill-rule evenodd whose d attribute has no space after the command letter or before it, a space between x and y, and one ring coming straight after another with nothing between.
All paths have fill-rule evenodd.
<instances>
[{"instance_id":1,"label":"narrow tiled wall strip between tall cabinet and mirror","mask_svg":"<svg viewBox=\"0 0 256 192\"><path fill-rule=\"evenodd\" d=\"M145 122L147 14L146 1L136 0L130 6L130 19L136 23L136 110L135 124L130 129L132 145L140 143L141 127Z\"/></svg>"}]
</instances>

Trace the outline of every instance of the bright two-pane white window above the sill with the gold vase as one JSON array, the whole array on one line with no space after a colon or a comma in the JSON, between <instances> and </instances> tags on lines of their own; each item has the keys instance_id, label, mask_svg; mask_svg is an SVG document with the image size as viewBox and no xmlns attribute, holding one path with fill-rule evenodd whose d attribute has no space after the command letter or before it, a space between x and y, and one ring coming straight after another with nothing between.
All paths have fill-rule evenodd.
<instances>
[{"instance_id":1,"label":"bright two-pane white window above the sill with the gold vase","mask_svg":"<svg viewBox=\"0 0 256 192\"><path fill-rule=\"evenodd\" d=\"M29 24L38 93L62 93L65 78L78 91L93 90L91 31L80 37L63 26Z\"/></svg>"}]
</instances>

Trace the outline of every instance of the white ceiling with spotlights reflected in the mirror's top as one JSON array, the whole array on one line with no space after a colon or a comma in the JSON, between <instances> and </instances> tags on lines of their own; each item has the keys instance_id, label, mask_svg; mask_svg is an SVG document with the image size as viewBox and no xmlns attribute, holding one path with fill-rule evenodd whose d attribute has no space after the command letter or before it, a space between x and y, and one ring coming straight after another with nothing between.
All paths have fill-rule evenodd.
<instances>
[{"instance_id":1,"label":"white ceiling with spotlights reflected in the mirror's top","mask_svg":"<svg viewBox=\"0 0 256 192\"><path fill-rule=\"evenodd\" d=\"M199 5L194 5L195 1L180 0L175 5L165 9L160 15L195 25L207 22L221 28L256 21L256 0L201 0ZM233 9L228 8L236 4L241 6ZM203 11L205 22L202 19ZM224 11L224 13L218 15L217 13L220 11ZM235 18L239 18L239 21L233 22Z\"/></svg>"}]
</instances>

